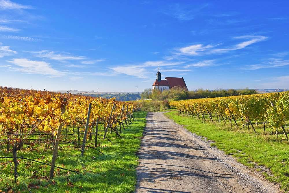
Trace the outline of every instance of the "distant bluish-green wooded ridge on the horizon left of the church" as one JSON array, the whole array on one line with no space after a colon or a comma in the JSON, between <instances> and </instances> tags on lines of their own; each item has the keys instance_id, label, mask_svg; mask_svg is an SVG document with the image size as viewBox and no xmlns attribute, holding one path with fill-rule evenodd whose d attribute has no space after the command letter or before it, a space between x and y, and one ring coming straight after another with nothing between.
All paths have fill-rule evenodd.
<instances>
[{"instance_id":1,"label":"distant bluish-green wooded ridge on the horizon left of the church","mask_svg":"<svg viewBox=\"0 0 289 193\"><path fill-rule=\"evenodd\" d=\"M87 96L92 96L92 97L102 97L105 99L111 99L115 97L116 101L135 101L139 100L140 94L138 93L100 93L100 94L86 94Z\"/></svg>"}]
</instances>

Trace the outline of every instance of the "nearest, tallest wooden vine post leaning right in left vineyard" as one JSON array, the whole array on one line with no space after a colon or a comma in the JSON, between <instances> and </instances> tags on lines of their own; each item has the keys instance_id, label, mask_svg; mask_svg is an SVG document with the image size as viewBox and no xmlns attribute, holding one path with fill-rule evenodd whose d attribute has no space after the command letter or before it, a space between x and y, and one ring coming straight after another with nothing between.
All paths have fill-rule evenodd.
<instances>
[{"instance_id":1,"label":"nearest, tallest wooden vine post leaning right in left vineyard","mask_svg":"<svg viewBox=\"0 0 289 193\"><path fill-rule=\"evenodd\" d=\"M61 115L64 114L65 112L65 103L67 102L66 98L63 99L62 106L61 106ZM56 157L57 157L57 152L58 152L58 146L59 146L59 138L61 136L61 130L62 130L62 119L61 117L59 118L60 125L58 126L57 129L57 134L55 138L55 144L54 144L54 149L53 149L53 154L52 154L52 161L51 161L51 167L50 167L50 172L49 172L49 180L53 178L54 176L54 168L55 168L55 162L56 162Z\"/></svg>"}]
</instances>

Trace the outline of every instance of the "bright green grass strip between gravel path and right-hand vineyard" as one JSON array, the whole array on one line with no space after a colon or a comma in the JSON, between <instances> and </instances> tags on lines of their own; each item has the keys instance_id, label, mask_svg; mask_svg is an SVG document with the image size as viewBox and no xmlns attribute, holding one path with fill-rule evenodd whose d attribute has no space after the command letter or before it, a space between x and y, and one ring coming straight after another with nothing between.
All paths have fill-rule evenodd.
<instances>
[{"instance_id":1,"label":"bright green grass strip between gravel path and right-hand vineyard","mask_svg":"<svg viewBox=\"0 0 289 193\"><path fill-rule=\"evenodd\" d=\"M276 139L270 132L254 134L244 129L238 132L223 124L216 125L180 116L178 112L168 112L166 116L178 124L185 125L184 127L192 133L213 140L212 145L236 157L238 162L252 168L255 164L270 168L273 176L264 173L266 179L279 183L283 190L289 191L289 143L282 140L284 136L281 134Z\"/></svg>"}]
</instances>

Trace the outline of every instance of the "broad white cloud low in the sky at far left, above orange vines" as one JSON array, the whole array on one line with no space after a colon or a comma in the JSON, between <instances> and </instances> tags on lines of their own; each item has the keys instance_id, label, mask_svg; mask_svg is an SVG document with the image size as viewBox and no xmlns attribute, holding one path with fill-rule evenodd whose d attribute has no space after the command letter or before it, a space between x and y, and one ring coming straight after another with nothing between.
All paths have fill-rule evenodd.
<instances>
[{"instance_id":1,"label":"broad white cloud low in the sky at far left, above orange vines","mask_svg":"<svg viewBox=\"0 0 289 193\"><path fill-rule=\"evenodd\" d=\"M12 69L25 73L49 75L51 77L60 77L66 74L65 72L55 70L51 64L43 61L14 58L6 62L16 65L16 67L12 67Z\"/></svg>"}]
</instances>

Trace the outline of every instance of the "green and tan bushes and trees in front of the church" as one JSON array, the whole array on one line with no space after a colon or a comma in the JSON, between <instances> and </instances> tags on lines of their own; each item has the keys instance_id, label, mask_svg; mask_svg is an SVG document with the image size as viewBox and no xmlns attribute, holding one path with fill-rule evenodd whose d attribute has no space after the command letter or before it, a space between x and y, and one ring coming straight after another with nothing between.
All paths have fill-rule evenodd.
<instances>
[{"instance_id":1,"label":"green and tan bushes and trees in front of the church","mask_svg":"<svg viewBox=\"0 0 289 193\"><path fill-rule=\"evenodd\" d=\"M152 90L150 88L144 89L140 94L142 99L153 99L155 101L177 101L184 99L199 99L199 98L213 98L213 97L223 97L223 96L237 96L246 94L257 94L255 90L245 88L241 90L235 89L215 89L215 90L203 90L197 89L194 91L188 91L181 87L173 87L170 90L165 90L160 92L160 90Z\"/></svg>"}]
</instances>

